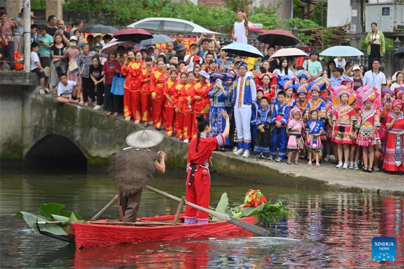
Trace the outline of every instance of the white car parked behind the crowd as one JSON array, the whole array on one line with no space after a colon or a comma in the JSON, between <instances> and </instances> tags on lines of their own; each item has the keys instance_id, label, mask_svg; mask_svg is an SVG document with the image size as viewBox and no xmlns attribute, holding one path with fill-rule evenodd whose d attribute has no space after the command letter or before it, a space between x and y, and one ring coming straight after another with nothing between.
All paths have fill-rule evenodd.
<instances>
[{"instance_id":1,"label":"white car parked behind the crowd","mask_svg":"<svg viewBox=\"0 0 404 269\"><path fill-rule=\"evenodd\" d=\"M211 31L197 25L193 22L174 19L174 18L147 18L127 26L128 28L141 28L150 30L166 30L175 32L194 32L194 33L207 33L219 34L218 32Z\"/></svg>"}]
</instances>

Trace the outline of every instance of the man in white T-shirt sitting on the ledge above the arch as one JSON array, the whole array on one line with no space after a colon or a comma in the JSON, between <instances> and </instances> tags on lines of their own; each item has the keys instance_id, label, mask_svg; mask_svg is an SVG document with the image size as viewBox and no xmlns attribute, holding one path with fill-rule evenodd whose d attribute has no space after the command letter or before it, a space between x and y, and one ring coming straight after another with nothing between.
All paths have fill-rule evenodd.
<instances>
[{"instance_id":1,"label":"man in white T-shirt sitting on the ledge above the arch","mask_svg":"<svg viewBox=\"0 0 404 269\"><path fill-rule=\"evenodd\" d=\"M66 74L59 75L58 97L56 101L60 103L78 103L83 105L83 93L81 83L67 80Z\"/></svg>"}]
</instances>

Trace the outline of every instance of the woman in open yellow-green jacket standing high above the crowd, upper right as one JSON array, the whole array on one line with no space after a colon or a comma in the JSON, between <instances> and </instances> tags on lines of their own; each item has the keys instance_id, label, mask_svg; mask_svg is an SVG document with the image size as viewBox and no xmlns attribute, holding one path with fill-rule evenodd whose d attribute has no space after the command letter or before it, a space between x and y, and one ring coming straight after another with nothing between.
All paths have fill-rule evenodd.
<instances>
[{"instance_id":1,"label":"woman in open yellow-green jacket standing high above the crowd, upper right","mask_svg":"<svg viewBox=\"0 0 404 269\"><path fill-rule=\"evenodd\" d=\"M369 70L373 69L372 59L380 59L386 54L386 41L384 35L381 31L377 30L377 23L372 22L370 25L372 29L371 32L366 36L366 42L369 43L368 46L368 56L369 56Z\"/></svg>"}]
</instances>

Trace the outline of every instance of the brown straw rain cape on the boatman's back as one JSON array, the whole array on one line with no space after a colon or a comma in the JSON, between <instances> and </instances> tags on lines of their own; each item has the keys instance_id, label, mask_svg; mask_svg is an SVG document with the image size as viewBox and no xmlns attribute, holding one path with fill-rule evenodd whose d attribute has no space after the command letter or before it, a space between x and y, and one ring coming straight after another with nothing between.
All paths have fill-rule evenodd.
<instances>
[{"instance_id":1,"label":"brown straw rain cape on the boatman's back","mask_svg":"<svg viewBox=\"0 0 404 269\"><path fill-rule=\"evenodd\" d=\"M110 158L108 172L123 195L133 194L153 179L160 156L148 149L130 148Z\"/></svg>"}]
</instances>

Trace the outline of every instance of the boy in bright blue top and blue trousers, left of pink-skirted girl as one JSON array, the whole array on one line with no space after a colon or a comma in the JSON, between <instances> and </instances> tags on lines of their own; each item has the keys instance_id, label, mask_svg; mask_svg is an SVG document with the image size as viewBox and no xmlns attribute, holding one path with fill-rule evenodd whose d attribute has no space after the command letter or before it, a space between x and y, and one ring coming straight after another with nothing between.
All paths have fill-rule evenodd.
<instances>
[{"instance_id":1,"label":"boy in bright blue top and blue trousers, left of pink-skirted girl","mask_svg":"<svg viewBox=\"0 0 404 269\"><path fill-rule=\"evenodd\" d=\"M279 155L276 159L277 163L283 162L286 155L286 124L289 118L289 105L285 103L286 93L280 91L277 94L278 102L274 105L274 110L272 111L272 139L270 144L271 156L270 160L273 160L276 156L276 148L279 147Z\"/></svg>"}]
</instances>

